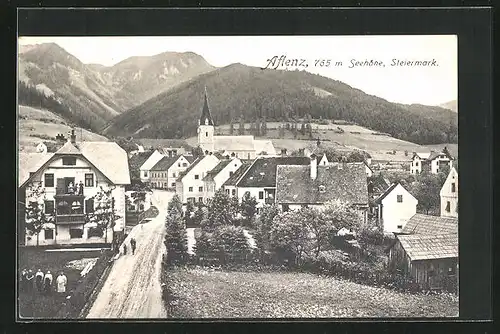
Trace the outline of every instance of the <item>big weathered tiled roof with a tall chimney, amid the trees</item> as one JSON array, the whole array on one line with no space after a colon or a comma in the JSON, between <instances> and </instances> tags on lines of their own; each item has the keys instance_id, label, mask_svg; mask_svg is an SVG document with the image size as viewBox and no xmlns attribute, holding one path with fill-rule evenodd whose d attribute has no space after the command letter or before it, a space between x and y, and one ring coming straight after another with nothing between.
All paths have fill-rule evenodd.
<instances>
[{"instance_id":1,"label":"big weathered tiled roof with a tall chimney, amid the trees","mask_svg":"<svg viewBox=\"0 0 500 334\"><path fill-rule=\"evenodd\" d=\"M310 166L278 166L276 202L289 204L326 203L342 200L368 204L365 166L346 164L341 169L318 166L311 179Z\"/></svg>"}]
</instances>

